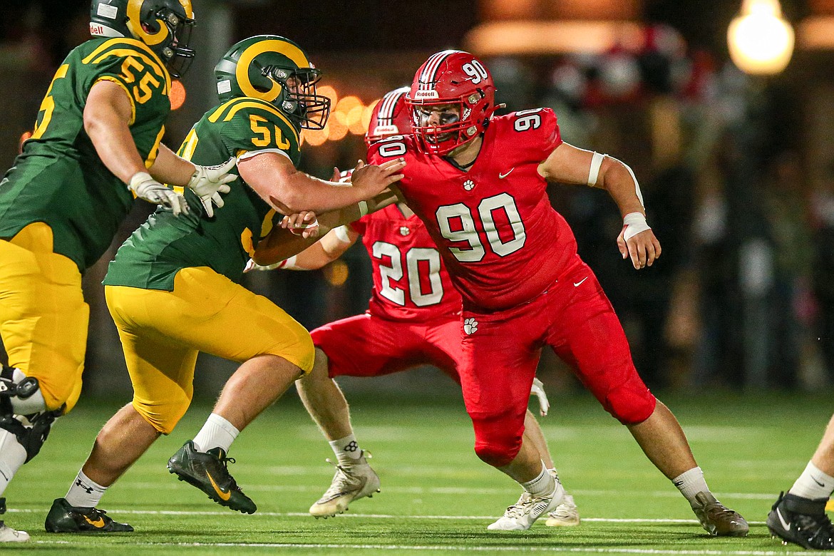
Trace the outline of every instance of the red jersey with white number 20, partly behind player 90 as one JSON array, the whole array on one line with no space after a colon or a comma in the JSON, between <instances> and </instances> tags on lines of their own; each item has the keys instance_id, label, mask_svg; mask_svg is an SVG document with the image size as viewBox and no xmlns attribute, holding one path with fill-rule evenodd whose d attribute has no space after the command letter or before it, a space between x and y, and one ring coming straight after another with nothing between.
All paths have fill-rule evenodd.
<instances>
[{"instance_id":1,"label":"red jersey with white number 20, partly behind player 90","mask_svg":"<svg viewBox=\"0 0 834 556\"><path fill-rule=\"evenodd\" d=\"M362 235L373 265L368 312L397 321L426 322L460 313L440 252L420 218L405 218L396 204L350 224Z\"/></svg>"}]
</instances>

